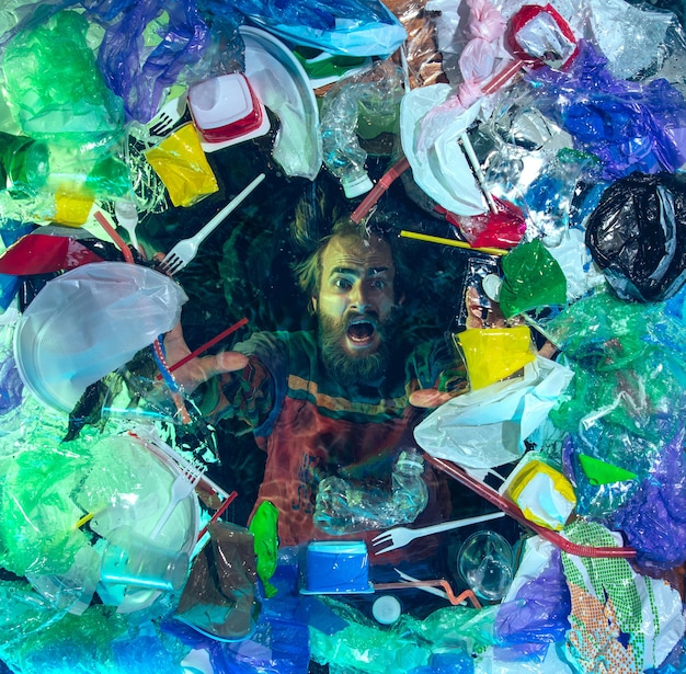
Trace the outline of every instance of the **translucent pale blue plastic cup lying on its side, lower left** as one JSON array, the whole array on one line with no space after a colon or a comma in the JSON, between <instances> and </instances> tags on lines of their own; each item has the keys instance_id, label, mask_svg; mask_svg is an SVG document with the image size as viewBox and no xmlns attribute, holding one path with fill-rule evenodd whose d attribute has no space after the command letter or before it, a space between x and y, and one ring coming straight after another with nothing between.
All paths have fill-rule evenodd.
<instances>
[{"instance_id":1,"label":"translucent pale blue plastic cup lying on its side, lower left","mask_svg":"<svg viewBox=\"0 0 686 674\"><path fill-rule=\"evenodd\" d=\"M103 551L101 580L105 584L171 592L183 585L188 563L186 552L160 546L124 526L110 536Z\"/></svg>"}]
</instances>

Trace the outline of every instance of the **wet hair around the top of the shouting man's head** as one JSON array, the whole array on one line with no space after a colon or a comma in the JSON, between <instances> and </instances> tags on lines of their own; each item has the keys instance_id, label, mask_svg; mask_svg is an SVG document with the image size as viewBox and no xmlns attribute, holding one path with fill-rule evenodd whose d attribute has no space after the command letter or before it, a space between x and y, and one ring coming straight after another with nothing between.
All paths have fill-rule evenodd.
<instances>
[{"instance_id":1,"label":"wet hair around the top of the shouting man's head","mask_svg":"<svg viewBox=\"0 0 686 674\"><path fill-rule=\"evenodd\" d=\"M364 224L357 225L350 217L336 220L331 229L331 233L320 240L319 245L302 262L294 265L294 273L298 286L310 298L319 293L322 274L322 258L327 245L334 237L345 240L368 241L371 237L386 241L390 245L393 266L396 267L396 282L393 292L396 297L402 293L402 281L404 278L403 265L398 254L395 238L381 228L369 228Z\"/></svg>"}]
</instances>

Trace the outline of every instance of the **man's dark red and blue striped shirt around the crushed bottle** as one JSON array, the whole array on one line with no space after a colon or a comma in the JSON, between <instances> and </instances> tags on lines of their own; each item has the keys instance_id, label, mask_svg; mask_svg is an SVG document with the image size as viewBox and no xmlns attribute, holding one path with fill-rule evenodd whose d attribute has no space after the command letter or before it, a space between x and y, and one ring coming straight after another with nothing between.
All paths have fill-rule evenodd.
<instances>
[{"instance_id":1,"label":"man's dark red and blue striped shirt around the crushed bottle","mask_svg":"<svg viewBox=\"0 0 686 674\"><path fill-rule=\"evenodd\" d=\"M393 361L377 385L350 390L327 376L316 333L259 333L236 350L248 355L249 363L240 375L224 376L214 415L242 418L266 450L255 509L262 501L276 505L279 542L285 546L333 538L312 523L317 485L323 478L390 476L398 450L415 446L411 431L423 410L409 403L410 395L433 388L448 365L447 350L425 344ZM441 519L435 511L446 494L437 493L428 468L424 479L427 511L433 511L434 521Z\"/></svg>"}]
</instances>

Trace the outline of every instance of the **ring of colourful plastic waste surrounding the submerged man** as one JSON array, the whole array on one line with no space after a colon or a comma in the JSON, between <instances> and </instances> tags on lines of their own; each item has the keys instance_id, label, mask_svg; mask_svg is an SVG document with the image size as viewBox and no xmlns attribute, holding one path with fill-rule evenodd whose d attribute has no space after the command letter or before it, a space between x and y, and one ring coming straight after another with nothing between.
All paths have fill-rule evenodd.
<instances>
[{"instance_id":1,"label":"ring of colourful plastic waste surrounding the submerged man","mask_svg":"<svg viewBox=\"0 0 686 674\"><path fill-rule=\"evenodd\" d=\"M677 9L5 1L0 661L24 674L685 671ZM296 194L325 176L356 222L392 186L423 216L397 224L418 258L461 254L449 330L469 390L428 391L423 454L393 467L390 495L331 478L316 517L332 533L411 524L431 464L527 532L490 569L506 574L492 594L478 564L457 598L405 574L441 607L370 616L351 601L385 587L364 544L279 548L270 504L250 527L221 516L233 496L205 472L211 433L164 359L188 295L147 229L228 191L218 158L258 147L265 184ZM164 434L184 426L195 456Z\"/></svg>"}]
</instances>

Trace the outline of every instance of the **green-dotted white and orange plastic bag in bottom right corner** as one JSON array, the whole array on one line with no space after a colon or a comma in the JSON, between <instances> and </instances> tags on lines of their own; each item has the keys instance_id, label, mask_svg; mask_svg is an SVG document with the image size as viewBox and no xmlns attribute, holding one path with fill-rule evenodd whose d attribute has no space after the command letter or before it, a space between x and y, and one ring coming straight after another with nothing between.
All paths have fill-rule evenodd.
<instances>
[{"instance_id":1,"label":"green-dotted white and orange plastic bag in bottom right corner","mask_svg":"<svg viewBox=\"0 0 686 674\"><path fill-rule=\"evenodd\" d=\"M598 524L578 521L565 534L590 545L621 545ZM611 662L616 672L659 666L684 633L679 593L663 580L641 575L627 560L562 553L572 597L567 649L576 669L592 674Z\"/></svg>"}]
</instances>

